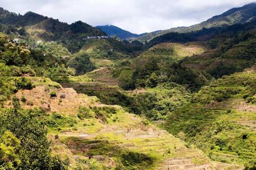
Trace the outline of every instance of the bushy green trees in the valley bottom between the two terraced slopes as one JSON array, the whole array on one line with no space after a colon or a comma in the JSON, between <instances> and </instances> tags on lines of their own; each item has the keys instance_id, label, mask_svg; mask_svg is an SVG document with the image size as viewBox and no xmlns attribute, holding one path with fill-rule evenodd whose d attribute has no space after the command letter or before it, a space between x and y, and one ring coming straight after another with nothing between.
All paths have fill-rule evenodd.
<instances>
[{"instance_id":1,"label":"bushy green trees in the valley bottom between the two terraced slopes","mask_svg":"<svg viewBox=\"0 0 256 170\"><path fill-rule=\"evenodd\" d=\"M145 115L153 121L164 120L170 112L186 104L191 95L184 86L175 83L160 84L156 88L147 89L147 91L138 94L125 91L87 93L88 91L83 88L80 88L79 92L96 95L104 104L123 106L127 112ZM105 107L103 115L115 112L108 110L109 108ZM83 114L79 114L79 116L83 117Z\"/></svg>"}]
</instances>

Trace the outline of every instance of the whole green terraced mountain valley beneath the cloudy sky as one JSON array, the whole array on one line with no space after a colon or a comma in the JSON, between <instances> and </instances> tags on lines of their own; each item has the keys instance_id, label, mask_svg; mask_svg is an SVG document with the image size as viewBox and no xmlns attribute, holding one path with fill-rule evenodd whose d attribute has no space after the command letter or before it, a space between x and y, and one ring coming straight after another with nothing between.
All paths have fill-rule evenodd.
<instances>
[{"instance_id":1,"label":"whole green terraced mountain valley beneath the cloudy sky","mask_svg":"<svg viewBox=\"0 0 256 170\"><path fill-rule=\"evenodd\" d=\"M254 9L137 35L0 8L0 169L255 169Z\"/></svg>"}]
</instances>

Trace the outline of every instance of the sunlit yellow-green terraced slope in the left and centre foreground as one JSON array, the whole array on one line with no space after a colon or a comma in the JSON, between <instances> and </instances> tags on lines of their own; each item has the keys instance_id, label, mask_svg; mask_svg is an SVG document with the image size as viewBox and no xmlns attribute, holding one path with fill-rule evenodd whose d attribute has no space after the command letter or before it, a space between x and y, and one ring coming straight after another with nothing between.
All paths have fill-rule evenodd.
<instances>
[{"instance_id":1,"label":"sunlit yellow-green terraced slope in the left and centre foreground","mask_svg":"<svg viewBox=\"0 0 256 170\"><path fill-rule=\"evenodd\" d=\"M93 159L109 169L124 168L127 153L142 156L142 162L129 165L139 169L215 167L199 149L186 145L139 116L124 112L120 106L100 104L96 97L77 94L74 89L63 88L49 79L31 80L37 85L35 88L16 94L19 99L22 96L27 99L21 103L23 108L46 107L45 111L60 119L58 121L68 118L75 122L71 126L60 124L48 128L52 153L69 158L73 168L81 159ZM52 91L56 96L50 95ZM81 107L95 115L78 118Z\"/></svg>"}]
</instances>

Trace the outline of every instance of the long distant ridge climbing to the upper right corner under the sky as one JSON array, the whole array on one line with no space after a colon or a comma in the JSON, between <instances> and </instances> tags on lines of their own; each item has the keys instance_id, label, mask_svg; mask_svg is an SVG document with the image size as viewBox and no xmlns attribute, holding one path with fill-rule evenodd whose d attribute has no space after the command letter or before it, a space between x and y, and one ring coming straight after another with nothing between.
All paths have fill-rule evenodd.
<instances>
[{"instance_id":1,"label":"long distant ridge climbing to the upper right corner under the sky","mask_svg":"<svg viewBox=\"0 0 256 170\"><path fill-rule=\"evenodd\" d=\"M256 2L251 4L244 5L240 8L232 8L229 9L227 12L224 12L221 15L213 16L212 18L201 22L200 24L192 25L189 27L178 27L178 28L170 28L163 31L157 32L150 32L146 35L140 36L137 38L138 41L145 42L150 41L151 39L155 38L156 36L164 35L169 32L191 32L191 31L198 31L202 28L212 28L212 27L219 27L225 25L234 25L234 24L244 24L247 22L252 21L256 18Z\"/></svg>"}]
</instances>

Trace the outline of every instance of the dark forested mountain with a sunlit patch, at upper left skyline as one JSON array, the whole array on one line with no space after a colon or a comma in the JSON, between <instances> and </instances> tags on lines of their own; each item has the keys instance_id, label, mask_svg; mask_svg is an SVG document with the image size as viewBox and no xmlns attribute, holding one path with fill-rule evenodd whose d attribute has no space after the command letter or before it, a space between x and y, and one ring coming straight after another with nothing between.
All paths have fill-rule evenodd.
<instances>
[{"instance_id":1,"label":"dark forested mountain with a sunlit patch, at upper left skyline","mask_svg":"<svg viewBox=\"0 0 256 170\"><path fill-rule=\"evenodd\" d=\"M71 52L80 50L86 43L83 38L87 36L106 35L100 29L81 21L69 25L34 12L20 15L4 8L0 8L0 32L35 41L59 41Z\"/></svg>"}]
</instances>

